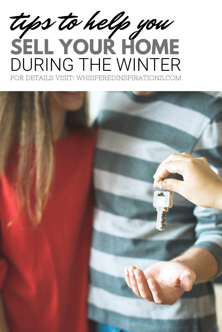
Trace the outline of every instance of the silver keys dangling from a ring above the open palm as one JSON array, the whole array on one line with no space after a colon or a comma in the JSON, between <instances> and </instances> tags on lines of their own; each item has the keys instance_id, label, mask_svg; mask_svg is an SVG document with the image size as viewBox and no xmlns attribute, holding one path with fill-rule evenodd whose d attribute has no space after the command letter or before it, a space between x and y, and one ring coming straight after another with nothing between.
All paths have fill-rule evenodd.
<instances>
[{"instance_id":1,"label":"silver keys dangling from a ring above the open palm","mask_svg":"<svg viewBox=\"0 0 222 332\"><path fill-rule=\"evenodd\" d=\"M173 205L173 193L168 191L163 192L161 187L162 186L160 186L160 191L154 191L153 196L153 206L156 207L157 210L156 228L158 230L164 230L166 228L166 213Z\"/></svg>"}]
</instances>

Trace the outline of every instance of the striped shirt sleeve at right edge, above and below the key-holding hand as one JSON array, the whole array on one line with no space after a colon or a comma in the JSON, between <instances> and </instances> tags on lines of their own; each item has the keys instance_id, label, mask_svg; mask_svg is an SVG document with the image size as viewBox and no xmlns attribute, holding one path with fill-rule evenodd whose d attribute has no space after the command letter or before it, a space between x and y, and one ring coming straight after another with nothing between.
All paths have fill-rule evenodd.
<instances>
[{"instance_id":1,"label":"striped shirt sleeve at right edge, above and below the key-holding hand","mask_svg":"<svg viewBox=\"0 0 222 332\"><path fill-rule=\"evenodd\" d=\"M212 169L222 176L222 114L207 125L191 154L205 157ZM194 215L197 240L193 247L205 248L215 256L219 276L222 274L222 210L197 206Z\"/></svg>"}]
</instances>

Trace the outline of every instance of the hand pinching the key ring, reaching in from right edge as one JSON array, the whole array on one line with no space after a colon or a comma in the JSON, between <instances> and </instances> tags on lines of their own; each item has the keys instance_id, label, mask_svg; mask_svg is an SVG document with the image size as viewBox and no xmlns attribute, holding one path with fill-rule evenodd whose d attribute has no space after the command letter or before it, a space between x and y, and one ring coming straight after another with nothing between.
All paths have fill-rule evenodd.
<instances>
[{"instance_id":1,"label":"hand pinching the key ring, reaching in from right edge","mask_svg":"<svg viewBox=\"0 0 222 332\"><path fill-rule=\"evenodd\" d=\"M178 173L184 181L165 179L170 173ZM201 207L222 209L222 178L217 175L203 157L195 158L186 152L171 154L154 174L154 188L160 187L179 193Z\"/></svg>"}]
</instances>

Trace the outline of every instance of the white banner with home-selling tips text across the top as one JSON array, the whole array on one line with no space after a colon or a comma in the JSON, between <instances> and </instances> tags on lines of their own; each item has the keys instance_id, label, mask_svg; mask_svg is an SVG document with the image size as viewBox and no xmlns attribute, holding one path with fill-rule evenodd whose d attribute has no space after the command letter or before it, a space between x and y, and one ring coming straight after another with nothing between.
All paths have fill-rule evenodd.
<instances>
[{"instance_id":1,"label":"white banner with home-selling tips text across the top","mask_svg":"<svg viewBox=\"0 0 222 332\"><path fill-rule=\"evenodd\" d=\"M222 90L221 0L8 1L0 90Z\"/></svg>"}]
</instances>

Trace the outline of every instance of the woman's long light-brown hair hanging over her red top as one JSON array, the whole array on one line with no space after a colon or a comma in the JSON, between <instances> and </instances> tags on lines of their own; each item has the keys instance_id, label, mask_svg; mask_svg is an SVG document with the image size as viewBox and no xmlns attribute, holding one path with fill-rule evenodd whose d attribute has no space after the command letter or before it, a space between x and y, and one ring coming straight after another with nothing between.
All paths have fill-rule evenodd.
<instances>
[{"instance_id":1,"label":"woman's long light-brown hair hanging over her red top","mask_svg":"<svg viewBox=\"0 0 222 332\"><path fill-rule=\"evenodd\" d=\"M73 113L69 116L72 125L79 122L77 118L84 112ZM38 225L54 174L48 92L0 92L0 174L15 141L19 142L15 181L19 211L26 207L33 225Z\"/></svg>"}]
</instances>

